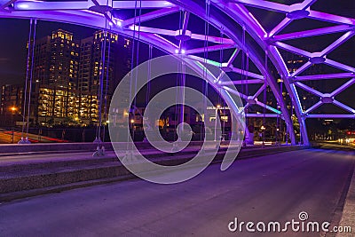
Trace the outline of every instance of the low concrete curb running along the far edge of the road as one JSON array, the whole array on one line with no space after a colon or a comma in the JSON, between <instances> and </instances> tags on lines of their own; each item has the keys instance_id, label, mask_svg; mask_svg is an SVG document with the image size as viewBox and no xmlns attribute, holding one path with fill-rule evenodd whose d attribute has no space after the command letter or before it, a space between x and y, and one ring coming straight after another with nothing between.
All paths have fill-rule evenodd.
<instances>
[{"instance_id":1,"label":"low concrete curb running along the far edge of the road","mask_svg":"<svg viewBox=\"0 0 355 237\"><path fill-rule=\"evenodd\" d=\"M250 159L259 156L263 156L265 154L277 154L290 152L300 149L307 149L307 146L283 146L278 148L257 148L257 149L248 149L241 152L237 160L242 159ZM220 163L224 158L225 151L218 152L214 161L212 163ZM173 159L171 159L173 158ZM165 157L165 159L161 161L156 161L163 165L174 165L181 162L187 162L191 159L191 157L186 157L186 155L181 156L170 156ZM49 179L47 179L49 178ZM0 194L0 201L12 201L16 199L22 199L31 196L37 196L42 194L51 194L51 193L59 193L65 190L81 188L86 186L95 186L102 185L117 181L128 180L132 178L137 178L133 174L131 174L128 170L122 167L122 164L114 163L105 167L91 168L88 169L83 167L81 170L71 170L67 172L58 172L58 173L49 173L49 174L38 174L35 177L29 176L28 178L15 178L14 180L21 180L20 183L25 184L26 188L22 190L12 191L9 193ZM60 184L59 179L63 181ZM27 181L27 182L26 182ZM5 181L6 182L6 181ZM13 181L12 181L13 182ZM19 185L16 181L13 185ZM34 182L31 184L31 182ZM49 182L53 182L54 185L51 186L39 186L39 183L43 182L43 184L48 185ZM5 184L5 183L4 183ZM28 188L29 186L33 186L32 189ZM12 186L13 188L13 186ZM21 189L21 188L18 188ZM26 190L25 190L26 189Z\"/></svg>"}]
</instances>

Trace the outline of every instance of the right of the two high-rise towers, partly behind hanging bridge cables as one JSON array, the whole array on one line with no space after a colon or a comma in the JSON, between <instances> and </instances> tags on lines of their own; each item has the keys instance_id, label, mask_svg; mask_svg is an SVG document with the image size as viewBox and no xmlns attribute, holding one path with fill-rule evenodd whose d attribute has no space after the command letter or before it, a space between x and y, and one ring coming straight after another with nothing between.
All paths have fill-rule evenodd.
<instances>
[{"instance_id":1,"label":"right of the two high-rise towers, partly behind hanging bridge cables","mask_svg":"<svg viewBox=\"0 0 355 237\"><path fill-rule=\"evenodd\" d=\"M108 113L116 86L130 71L130 55L130 40L113 33L99 30L94 36L81 41L77 86L80 94L78 103L80 120L98 122L101 76L103 81L101 111L103 115L105 111Z\"/></svg>"}]
</instances>

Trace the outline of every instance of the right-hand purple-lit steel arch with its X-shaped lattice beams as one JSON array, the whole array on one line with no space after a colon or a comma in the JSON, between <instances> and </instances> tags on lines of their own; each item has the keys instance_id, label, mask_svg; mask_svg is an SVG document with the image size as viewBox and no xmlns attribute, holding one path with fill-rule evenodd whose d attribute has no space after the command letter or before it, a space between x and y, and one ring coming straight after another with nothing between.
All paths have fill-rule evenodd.
<instances>
[{"instance_id":1,"label":"right-hand purple-lit steel arch with its X-shaped lattice beams","mask_svg":"<svg viewBox=\"0 0 355 237\"><path fill-rule=\"evenodd\" d=\"M312 4L316 3L317 0L305 0L300 4L278 4L270 1L261 0L233 0L228 3L222 0L211 0L213 4L216 4L220 9L223 9L227 14L229 14L234 20L239 24L243 24L247 27L248 33L253 36L259 45L263 47L265 51L268 51L270 59L274 66L278 69L281 78L285 82L287 90L289 92L290 98L293 104L296 105L296 115L298 121L300 122L301 132L304 139L304 144L308 144L307 130L305 127L305 119L307 118L351 118L355 119L355 109L344 105L342 102L335 99L335 96L342 91L350 88L352 84L355 83L355 68L345 65L341 62L327 59L327 54L334 51L341 44L349 40L355 35L354 23L355 19L346 18L334 14L329 14L325 12L312 11ZM271 12L282 12L285 14L285 18L280 21L280 23L272 28L269 32L262 27L260 22L256 20L251 12L248 11L246 6L264 9ZM325 22L331 22L336 24L332 27L327 28L314 28L311 30L300 30L288 34L279 34L283 28L286 28L293 20L299 20L309 18L312 20L319 20ZM335 42L329 44L323 51L319 52L309 52L304 51L294 46L282 43L284 40L312 37L312 36L322 36L327 34L334 34L339 32L345 32L343 36L340 36ZM308 58L309 61L306 62L302 67L298 68L296 72L292 74L288 72L288 67L285 64L284 59L280 55L279 49L290 51L297 55L304 56ZM344 73L337 74L324 74L324 75L300 75L308 67L315 64L324 63L328 66L342 69ZM337 79L337 78L349 78L349 81L343 83L342 86L337 88L331 93L321 93L316 89L313 89L302 81L310 80L327 80L327 79ZM298 98L298 93L296 87L303 89L304 91L311 92L312 94L319 96L319 102L303 110L300 99ZM349 114L346 115L319 115L311 114L316 108L323 104L333 104L337 107L342 108Z\"/></svg>"}]
</instances>

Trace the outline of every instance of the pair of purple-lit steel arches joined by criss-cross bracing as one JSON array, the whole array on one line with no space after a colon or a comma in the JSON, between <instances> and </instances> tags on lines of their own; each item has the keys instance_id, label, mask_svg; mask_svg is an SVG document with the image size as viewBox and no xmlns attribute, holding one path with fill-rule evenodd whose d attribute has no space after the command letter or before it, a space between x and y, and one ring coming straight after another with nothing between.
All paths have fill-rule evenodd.
<instances>
[{"instance_id":1,"label":"pair of purple-lit steel arches joined by criss-cross bracing","mask_svg":"<svg viewBox=\"0 0 355 237\"><path fill-rule=\"evenodd\" d=\"M140 5L140 1L138 1ZM146 22L149 20L155 20L166 15L179 12L184 10L184 21L182 28L177 28L177 30L170 30L164 28L139 28L139 39L142 42L149 43L155 47L166 51L170 54L174 53L184 53L185 60L191 62L190 59L196 59L201 63L213 64L222 67L225 72L232 71L236 74L248 74L250 78L248 83L261 84L261 87L256 94L253 96L243 95L237 91L231 91L227 87L227 84L223 82L218 82L218 78L215 78L218 83L214 84L215 87L221 86L224 95L227 98L228 93L239 93L241 98L246 102L253 103L260 107L265 107L267 110L271 111L272 114L267 114L267 117L281 116L287 123L288 133L293 144L296 143L296 138L294 134L294 129L290 115L288 115L287 107L280 95L277 83L272 77L269 68L264 67L264 51L267 52L267 56L271 59L273 65L277 68L281 78L283 79L286 89L288 90L290 99L293 101L293 105L296 107L296 115L298 121L300 122L300 129L302 133L302 138L304 144L308 144L307 130L305 127L305 119L318 117L333 117L333 118L355 118L355 110L349 106L344 105L340 101L336 100L335 97L343 90L349 88L351 84L355 83L354 73L355 69L353 67L344 65L332 59L327 59L327 54L330 51L335 50L339 45L341 45L346 40L350 39L354 35L354 22L355 20L344 18L341 16L331 15L323 12L312 11L311 7L315 0L305 0L301 4L285 5L277 4L269 1L261 0L209 0L209 4L212 8L209 17L206 16L206 11L204 8L205 1L198 0L170 0L170 1L142 1L141 6L145 9L153 10L151 12L145 13L136 19L119 20L114 18L110 10L111 9L134 9L136 6L136 1L107 1L94 0L94 1L69 1L69 2L40 2L33 0L10 0L10 1L0 1L0 17L2 18L36 18L40 20L55 20L60 22L74 23L78 25L94 27L94 28L104 28L105 21L109 20L111 29L124 36L133 36L133 30L138 29L138 20L140 22ZM248 11L247 7L262 8L267 11L272 12L282 12L285 14L285 19L281 20L280 23L272 28L270 32L266 32L260 22L256 20L256 17ZM218 30L223 31L224 35L227 37L218 36L208 36L193 34L192 31L188 29L188 20L190 14L194 14L200 17L202 20L209 20L209 23L213 25ZM330 28L317 28L312 30L299 31L289 34L280 35L283 28L286 28L290 22L293 20L311 18L314 20L324 20L335 23L336 26ZM136 22L136 26L134 26ZM241 43L241 27L246 28L248 34L252 37L255 42L247 41L245 44ZM284 40L298 38L298 37L311 37L325 35L335 32L345 32L334 43L331 43L326 49L320 52L308 52L301 49L297 49L291 45L283 43ZM136 34L138 34L136 32ZM137 35L136 35L137 36ZM172 43L165 36L174 36L179 43ZM207 39L210 43L214 45L205 48L193 48L184 49L182 47L184 41L186 40L200 40L203 41ZM258 45L263 50L263 53L258 51L255 45ZM204 59L199 56L201 52L207 51L220 51L225 49L234 49L233 55L227 62L216 62L210 59ZM300 67L296 72L290 74L288 72L288 67L286 66L284 60L282 59L279 49L290 51L298 55L303 55L307 57L309 61ZM256 65L259 70L259 74L252 72L243 72L240 68L233 66L233 60L237 57L239 51L248 52L248 55ZM313 64L325 63L332 67L337 67L343 69L345 72L342 74L333 75L300 75L307 67ZM200 68L203 70L203 68ZM332 79L332 78L350 78L347 83L344 83L337 90L325 94L315 89L312 89L302 83L307 80L316 80L321 76L322 79ZM210 81L210 80L209 80ZM265 82L271 87L273 94L280 104L280 110L265 105L264 103L257 101L257 96L264 90ZM210 83L214 83L213 80ZM234 84L241 84L242 82L233 81ZM319 102L314 106L307 108L305 111L302 109L300 99L298 98L297 88L301 88L305 91L309 91L317 96L319 96ZM341 107L348 111L348 115L312 115L312 111L322 104L332 103L337 107ZM248 107L248 103L247 103ZM237 109L237 108L234 108ZM248 116L260 116L257 114L250 114Z\"/></svg>"}]
</instances>

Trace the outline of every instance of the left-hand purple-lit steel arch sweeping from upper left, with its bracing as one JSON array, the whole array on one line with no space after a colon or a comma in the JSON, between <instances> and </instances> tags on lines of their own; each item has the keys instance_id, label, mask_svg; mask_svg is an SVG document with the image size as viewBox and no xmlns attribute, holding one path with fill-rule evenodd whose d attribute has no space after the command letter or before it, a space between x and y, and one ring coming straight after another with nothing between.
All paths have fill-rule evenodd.
<instances>
[{"instance_id":1,"label":"left-hand purple-lit steel arch sweeping from upper left, with its bracing","mask_svg":"<svg viewBox=\"0 0 355 237\"><path fill-rule=\"evenodd\" d=\"M95 28L104 28L105 21L109 20L111 29L119 34L124 36L133 36L133 30L137 30L138 18L129 19L129 20L118 20L115 19L113 16L110 15L111 8L114 9L133 9L136 5L135 1L111 1L109 6L106 6L105 3L100 3L103 1L94 1L94 2L37 2L37 1L15 1L15 2L7 2L2 6L3 12L0 13L0 16L3 18L36 18L40 20L55 20L60 22L67 22L67 23L74 23L83 26L95 27ZM209 17L209 22L211 25L214 25L217 28L220 28L224 31L225 36L229 36L229 38L225 37L217 37L217 36L207 36L193 34L191 31L187 29L188 23L188 16L190 12L197 15L201 19L207 20L207 16L205 15L205 9L203 9L203 4L199 5L194 3L193 1L184 1L184 3L178 3L175 1L166 2L166 1L142 1L143 8L159 8L159 10L155 10L153 12L146 13L140 16L139 20L147 21L147 20L154 20L156 18L178 12L181 7L185 12L184 17L184 24L181 29L174 30L167 30L162 28L146 28L141 27L139 28L139 39L145 43L153 44L155 47L166 51L170 54L176 52L185 52L186 54L186 61L191 61L189 59L197 59L205 64L214 64L219 65L220 67L225 68L226 70L232 70L237 74L242 74L241 69L233 67L233 60L236 58L239 51L248 51L250 59L255 63L256 67L261 72L261 75L246 72L249 77L253 78L249 80L248 83L261 83L262 86L256 94L248 97L247 95L243 95L238 91L233 91L227 84L223 82L214 83L213 81L216 80L209 80L210 83L217 87L222 87L222 94L225 99L228 99L228 94L236 93L241 95L242 99L246 101L255 101L256 105L260 107L265 107L269 111L272 111L273 114L264 115L266 117L277 117L280 116L283 118L287 123L288 133L291 138L291 142L293 144L296 143L295 134L293 133L293 125L291 119L288 115L288 111L280 97L280 91L276 86L272 75L268 72L268 69L264 67L263 57L258 55L251 46L246 44L242 44L240 40L240 34L238 36L235 29L233 29L233 24L224 19L223 15L214 16L213 14ZM203 3L203 2L201 2ZM133 23L136 22L136 26ZM137 34L137 32L136 32ZM169 40L162 36L176 36L177 39L180 39L180 43L177 45L175 43L171 43ZM193 40L208 40L210 43L217 43L217 45L209 46L207 49L205 48L195 48L195 49L181 49L181 41L185 39L193 39ZM195 56L194 54L201 53L202 51L219 51L224 49L235 49L231 59L229 59L225 63L215 62L210 59L203 59L201 57ZM204 69L201 67L197 67L201 71ZM266 78L266 79L265 79ZM267 82L268 85L271 86L272 91L274 91L275 98L280 103L280 111L276 108L270 107L265 105L264 103L257 101L256 97L263 91L264 89L264 81ZM235 81L235 84L241 83L240 81ZM248 104L247 104L248 107ZM238 111L239 108L233 108L234 111ZM248 114L248 116L259 116L257 114Z\"/></svg>"}]
</instances>

